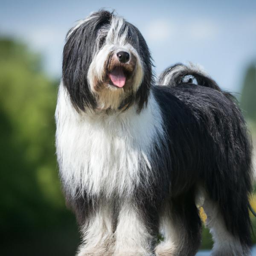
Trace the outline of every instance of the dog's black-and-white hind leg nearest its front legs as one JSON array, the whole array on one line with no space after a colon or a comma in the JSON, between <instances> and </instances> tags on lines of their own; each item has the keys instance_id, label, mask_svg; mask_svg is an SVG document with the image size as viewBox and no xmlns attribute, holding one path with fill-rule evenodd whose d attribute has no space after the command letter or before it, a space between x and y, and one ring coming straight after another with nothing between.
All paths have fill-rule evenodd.
<instances>
[{"instance_id":1,"label":"dog's black-and-white hind leg nearest its front legs","mask_svg":"<svg viewBox=\"0 0 256 256\"><path fill-rule=\"evenodd\" d=\"M157 256L194 256L201 243L201 220L193 193L165 204L160 216L163 241L155 248Z\"/></svg>"}]
</instances>

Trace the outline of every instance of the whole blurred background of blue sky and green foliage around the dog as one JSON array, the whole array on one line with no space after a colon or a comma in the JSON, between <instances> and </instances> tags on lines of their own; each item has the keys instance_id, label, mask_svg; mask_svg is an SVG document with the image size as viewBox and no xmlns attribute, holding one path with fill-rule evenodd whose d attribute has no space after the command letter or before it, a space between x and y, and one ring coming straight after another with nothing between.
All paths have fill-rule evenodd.
<instances>
[{"instance_id":1,"label":"whole blurred background of blue sky and green foliage around the dog","mask_svg":"<svg viewBox=\"0 0 256 256\"><path fill-rule=\"evenodd\" d=\"M58 180L54 111L65 35L76 20L102 7L140 29L156 74L175 62L201 64L237 97L256 142L256 1L1 0L3 256L75 254L79 233ZM251 203L256 209L253 197ZM201 248L211 246L204 229Z\"/></svg>"}]
</instances>

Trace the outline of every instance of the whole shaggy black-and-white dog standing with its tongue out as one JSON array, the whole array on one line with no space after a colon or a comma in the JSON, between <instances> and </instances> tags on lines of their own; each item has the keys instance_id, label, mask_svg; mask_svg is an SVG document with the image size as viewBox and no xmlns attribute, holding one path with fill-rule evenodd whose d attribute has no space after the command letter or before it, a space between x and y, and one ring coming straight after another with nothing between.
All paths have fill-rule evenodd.
<instances>
[{"instance_id":1,"label":"whole shaggy black-and-white dog standing with its tongue out","mask_svg":"<svg viewBox=\"0 0 256 256\"><path fill-rule=\"evenodd\" d=\"M77 255L195 255L198 202L212 255L250 255L251 146L229 93L182 64L156 83L140 31L108 11L70 29L62 71L56 147Z\"/></svg>"}]
</instances>

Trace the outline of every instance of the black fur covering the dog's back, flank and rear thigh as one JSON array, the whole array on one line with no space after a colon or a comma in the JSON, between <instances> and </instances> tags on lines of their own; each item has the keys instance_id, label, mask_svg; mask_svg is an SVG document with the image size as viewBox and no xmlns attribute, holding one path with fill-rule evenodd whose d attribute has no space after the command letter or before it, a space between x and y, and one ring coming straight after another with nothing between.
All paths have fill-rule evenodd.
<instances>
[{"instance_id":1,"label":"black fur covering the dog's back, flank and rear thigh","mask_svg":"<svg viewBox=\"0 0 256 256\"><path fill-rule=\"evenodd\" d=\"M183 83L176 73L170 86L153 87L166 125L173 198L202 183L219 205L227 229L250 245L248 195L251 192L251 143L236 101L200 73L203 85ZM214 89L213 89L214 88ZM168 170L166 170L168 172Z\"/></svg>"}]
</instances>

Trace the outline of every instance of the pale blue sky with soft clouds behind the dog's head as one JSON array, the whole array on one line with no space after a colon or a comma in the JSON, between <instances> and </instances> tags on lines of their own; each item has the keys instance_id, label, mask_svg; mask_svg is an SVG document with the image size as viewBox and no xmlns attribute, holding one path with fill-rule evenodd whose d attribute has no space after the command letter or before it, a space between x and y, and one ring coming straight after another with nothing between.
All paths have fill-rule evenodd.
<instances>
[{"instance_id":1,"label":"pale blue sky with soft clouds behind the dog's head","mask_svg":"<svg viewBox=\"0 0 256 256\"><path fill-rule=\"evenodd\" d=\"M222 88L239 92L247 65L256 60L255 0L1 0L0 34L42 52L47 72L59 77L68 29L103 7L115 9L140 29L157 74L173 63L192 61Z\"/></svg>"}]
</instances>

